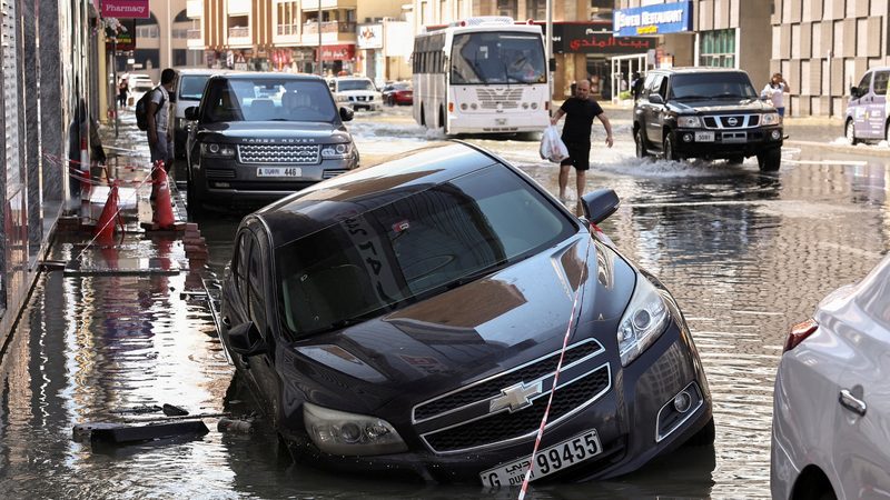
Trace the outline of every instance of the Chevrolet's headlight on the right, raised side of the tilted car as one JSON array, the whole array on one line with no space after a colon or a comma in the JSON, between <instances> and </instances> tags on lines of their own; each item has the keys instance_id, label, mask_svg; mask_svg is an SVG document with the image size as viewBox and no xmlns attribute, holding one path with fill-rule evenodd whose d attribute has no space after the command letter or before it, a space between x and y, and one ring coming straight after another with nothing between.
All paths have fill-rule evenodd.
<instances>
[{"instance_id":1,"label":"Chevrolet's headlight on the right, raised side of the tilted car","mask_svg":"<svg viewBox=\"0 0 890 500\"><path fill-rule=\"evenodd\" d=\"M621 366L626 367L664 332L671 313L664 298L645 277L636 280L631 303L619 323Z\"/></svg>"}]
</instances>

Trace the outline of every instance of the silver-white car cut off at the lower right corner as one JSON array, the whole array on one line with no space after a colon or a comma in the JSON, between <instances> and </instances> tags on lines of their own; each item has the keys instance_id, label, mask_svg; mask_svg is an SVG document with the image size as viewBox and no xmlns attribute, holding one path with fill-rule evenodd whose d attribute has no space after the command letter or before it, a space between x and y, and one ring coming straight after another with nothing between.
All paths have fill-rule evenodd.
<instances>
[{"instance_id":1,"label":"silver-white car cut off at the lower right corner","mask_svg":"<svg viewBox=\"0 0 890 500\"><path fill-rule=\"evenodd\" d=\"M774 499L890 497L890 256L792 327L773 398Z\"/></svg>"}]
</instances>

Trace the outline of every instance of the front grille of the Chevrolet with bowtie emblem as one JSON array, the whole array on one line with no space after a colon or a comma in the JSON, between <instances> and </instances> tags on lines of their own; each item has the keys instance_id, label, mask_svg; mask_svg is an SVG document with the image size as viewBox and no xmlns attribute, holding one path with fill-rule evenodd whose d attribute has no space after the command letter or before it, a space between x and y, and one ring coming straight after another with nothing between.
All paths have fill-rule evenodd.
<instances>
[{"instance_id":1,"label":"front grille of the Chevrolet with bowtie emblem","mask_svg":"<svg viewBox=\"0 0 890 500\"><path fill-rule=\"evenodd\" d=\"M601 359L602 346L589 339L566 350L560 383L553 396L547 427L599 400L612 387L610 363ZM427 447L436 453L457 453L533 437L541 426L553 387L560 352L508 372L418 404L414 422ZM522 408L491 410L506 391L520 384L543 389ZM438 422L442 422L441 424Z\"/></svg>"}]
</instances>

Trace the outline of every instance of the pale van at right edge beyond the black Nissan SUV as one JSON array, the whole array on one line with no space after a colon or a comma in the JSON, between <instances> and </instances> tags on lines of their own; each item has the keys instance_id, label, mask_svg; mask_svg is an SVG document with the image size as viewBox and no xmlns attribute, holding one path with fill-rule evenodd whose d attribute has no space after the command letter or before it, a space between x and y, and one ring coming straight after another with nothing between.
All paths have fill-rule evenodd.
<instances>
[{"instance_id":1,"label":"pale van at right edge beyond the black Nissan SUV","mask_svg":"<svg viewBox=\"0 0 890 500\"><path fill-rule=\"evenodd\" d=\"M850 102L843 131L851 144L870 140L888 140L887 81L890 67L878 67L866 71L858 86L850 88Z\"/></svg>"}]
</instances>

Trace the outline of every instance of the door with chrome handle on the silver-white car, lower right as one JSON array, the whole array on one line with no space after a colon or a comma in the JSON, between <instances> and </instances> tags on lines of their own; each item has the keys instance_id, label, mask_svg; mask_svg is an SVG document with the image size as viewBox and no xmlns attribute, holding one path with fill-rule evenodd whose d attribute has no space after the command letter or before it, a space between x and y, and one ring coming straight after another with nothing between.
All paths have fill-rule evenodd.
<instances>
[{"instance_id":1,"label":"door with chrome handle on the silver-white car, lower right","mask_svg":"<svg viewBox=\"0 0 890 500\"><path fill-rule=\"evenodd\" d=\"M847 498L890 498L888 336L886 328L874 323L850 333L857 357L847 360L839 380L837 406L842 418L834 429L832 453ZM844 497L838 493L838 498Z\"/></svg>"}]
</instances>

